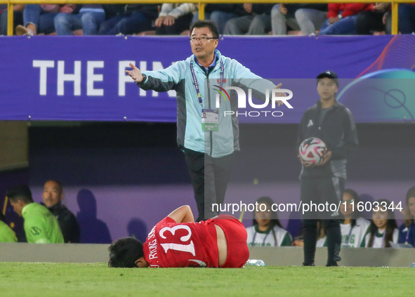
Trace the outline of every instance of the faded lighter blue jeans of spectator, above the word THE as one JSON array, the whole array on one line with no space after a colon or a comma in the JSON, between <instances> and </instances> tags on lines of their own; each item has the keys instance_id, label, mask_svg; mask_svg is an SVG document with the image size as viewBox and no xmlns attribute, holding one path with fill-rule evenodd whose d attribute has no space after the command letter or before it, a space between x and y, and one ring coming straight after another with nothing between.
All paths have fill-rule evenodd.
<instances>
[{"instance_id":1,"label":"faded lighter blue jeans of spectator, above the word THE","mask_svg":"<svg viewBox=\"0 0 415 297\"><path fill-rule=\"evenodd\" d=\"M105 12L88 11L71 14L59 13L55 16L55 29L58 35L73 35L75 30L83 29L84 35L98 34L98 22L105 20Z\"/></svg>"}]
</instances>

